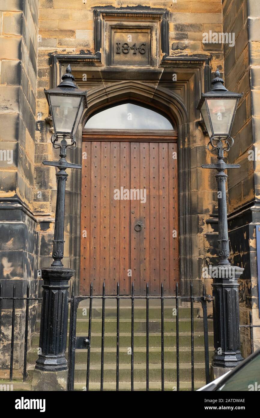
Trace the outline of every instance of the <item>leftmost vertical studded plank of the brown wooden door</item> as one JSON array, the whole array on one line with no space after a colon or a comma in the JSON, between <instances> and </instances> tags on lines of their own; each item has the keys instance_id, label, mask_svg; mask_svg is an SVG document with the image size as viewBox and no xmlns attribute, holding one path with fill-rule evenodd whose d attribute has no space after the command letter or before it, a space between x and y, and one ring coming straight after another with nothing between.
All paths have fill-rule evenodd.
<instances>
[{"instance_id":1,"label":"leftmost vertical studded plank of the brown wooden door","mask_svg":"<svg viewBox=\"0 0 260 418\"><path fill-rule=\"evenodd\" d=\"M90 260L90 199L91 199L91 142L82 144L82 181L81 181L81 280L80 294L87 295Z\"/></svg>"}]
</instances>

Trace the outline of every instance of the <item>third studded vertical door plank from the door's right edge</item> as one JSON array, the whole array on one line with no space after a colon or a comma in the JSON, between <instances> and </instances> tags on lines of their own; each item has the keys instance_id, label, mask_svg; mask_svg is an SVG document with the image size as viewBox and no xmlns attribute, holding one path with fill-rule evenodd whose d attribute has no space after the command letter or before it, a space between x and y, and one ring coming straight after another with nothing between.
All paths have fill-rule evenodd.
<instances>
[{"instance_id":1,"label":"third studded vertical door plank from the door's right edge","mask_svg":"<svg viewBox=\"0 0 260 418\"><path fill-rule=\"evenodd\" d=\"M160 292L160 260L159 260L159 146L150 143L150 275L151 294Z\"/></svg>"}]
</instances>

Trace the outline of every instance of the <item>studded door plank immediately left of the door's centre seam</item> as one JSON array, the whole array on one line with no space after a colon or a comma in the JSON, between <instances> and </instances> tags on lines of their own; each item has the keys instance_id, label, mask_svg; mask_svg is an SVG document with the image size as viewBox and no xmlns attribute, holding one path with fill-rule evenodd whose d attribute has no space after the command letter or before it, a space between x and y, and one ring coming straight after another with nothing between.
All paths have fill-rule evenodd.
<instances>
[{"instance_id":1,"label":"studded door plank immediately left of the door's centre seam","mask_svg":"<svg viewBox=\"0 0 260 418\"><path fill-rule=\"evenodd\" d=\"M130 189L130 153L129 142L120 143L120 187ZM120 200L120 252L119 283L121 293L129 294L130 270L130 201Z\"/></svg>"}]
</instances>

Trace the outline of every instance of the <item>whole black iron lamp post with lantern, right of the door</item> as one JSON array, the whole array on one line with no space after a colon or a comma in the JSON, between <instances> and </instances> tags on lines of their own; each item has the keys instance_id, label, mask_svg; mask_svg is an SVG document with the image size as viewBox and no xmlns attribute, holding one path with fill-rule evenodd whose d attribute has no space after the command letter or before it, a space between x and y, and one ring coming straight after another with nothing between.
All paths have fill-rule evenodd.
<instances>
[{"instance_id":1,"label":"whole black iron lamp post with lantern, right of the door","mask_svg":"<svg viewBox=\"0 0 260 418\"><path fill-rule=\"evenodd\" d=\"M240 352L240 319L237 279L243 270L232 266L228 260L229 239L227 228L227 200L226 181L227 168L240 168L239 164L226 164L224 151L228 152L234 140L230 133L237 110L237 104L242 93L229 92L225 86L220 72L217 70L212 80L212 88L202 94L197 109L210 137L208 150L217 151L218 162L204 164L202 168L215 168L218 185L218 255L219 263L214 268L213 278L213 320L214 320L214 347L212 358L213 375L221 375L223 370L236 366L241 360ZM225 370L226 371L226 370ZM225 372L224 371L224 372Z\"/></svg>"}]
</instances>

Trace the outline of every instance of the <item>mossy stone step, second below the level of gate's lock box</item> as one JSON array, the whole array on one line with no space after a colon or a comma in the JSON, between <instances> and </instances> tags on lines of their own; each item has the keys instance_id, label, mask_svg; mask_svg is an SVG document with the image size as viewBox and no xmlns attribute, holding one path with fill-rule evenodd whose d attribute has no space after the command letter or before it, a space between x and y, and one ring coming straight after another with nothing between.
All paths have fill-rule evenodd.
<instances>
[{"instance_id":1,"label":"mossy stone step, second below the level of gate's lock box","mask_svg":"<svg viewBox=\"0 0 260 418\"><path fill-rule=\"evenodd\" d=\"M76 364L74 381L83 384L86 382L86 364ZM28 366L28 373L31 375L31 366ZM100 382L101 365L91 364L89 381ZM179 376L182 381L191 381L191 364L182 363L179 365ZM165 382L175 382L177 378L176 364L164 365ZM205 378L204 364L194 364L194 380L203 381ZM146 382L146 364L134 365L134 380ZM161 364L149 364L149 381L158 382L161 380ZM119 364L119 381L131 382L131 364ZM104 382L116 382L116 364L104 364Z\"/></svg>"}]
</instances>

